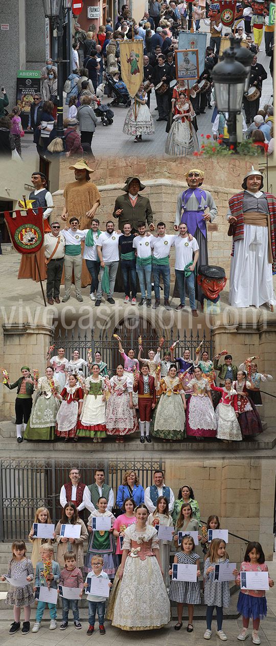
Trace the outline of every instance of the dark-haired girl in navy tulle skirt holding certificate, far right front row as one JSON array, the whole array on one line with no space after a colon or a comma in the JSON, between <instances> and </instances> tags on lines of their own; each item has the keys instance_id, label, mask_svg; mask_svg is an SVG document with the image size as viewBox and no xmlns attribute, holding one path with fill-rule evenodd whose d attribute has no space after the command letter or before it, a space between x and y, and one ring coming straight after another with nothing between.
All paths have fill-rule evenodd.
<instances>
[{"instance_id":1,"label":"dark-haired girl in navy tulle skirt holding certificate, far right front row","mask_svg":"<svg viewBox=\"0 0 276 646\"><path fill-rule=\"evenodd\" d=\"M241 583L241 572L268 572L268 566L264 563L264 552L260 543L252 541L248 543L244 554L244 561L241 563L241 570L235 579L238 585ZM268 585L273 587L274 581L268 577ZM238 640L244 641L248 637L248 626L250 617L253 620L252 641L253 644L261 643L258 630L260 619L266 617L266 593L264 590L247 590L243 589L239 593L237 601L237 610L243 615L243 630L238 636Z\"/></svg>"}]
</instances>

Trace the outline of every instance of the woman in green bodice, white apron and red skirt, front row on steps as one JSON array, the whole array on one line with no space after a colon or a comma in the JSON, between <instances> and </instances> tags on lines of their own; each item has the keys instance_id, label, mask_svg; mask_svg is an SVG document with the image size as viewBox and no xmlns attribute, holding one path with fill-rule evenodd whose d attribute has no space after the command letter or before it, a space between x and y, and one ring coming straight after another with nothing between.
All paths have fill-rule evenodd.
<instances>
[{"instance_id":1,"label":"woman in green bodice, white apron and red skirt, front row on steps","mask_svg":"<svg viewBox=\"0 0 276 646\"><path fill-rule=\"evenodd\" d=\"M106 437L106 387L99 373L98 364L93 364L92 375L85 380L86 399L77 430L77 437L93 437L93 442Z\"/></svg>"}]
</instances>

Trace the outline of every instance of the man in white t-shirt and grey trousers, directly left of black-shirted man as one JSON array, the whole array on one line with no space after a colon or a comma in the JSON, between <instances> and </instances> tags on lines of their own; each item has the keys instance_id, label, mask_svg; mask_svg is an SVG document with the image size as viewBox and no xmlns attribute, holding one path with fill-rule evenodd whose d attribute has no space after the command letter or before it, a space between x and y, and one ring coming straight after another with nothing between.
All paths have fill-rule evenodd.
<instances>
[{"instance_id":1,"label":"man in white t-shirt and grey trousers, directly left of black-shirted man","mask_svg":"<svg viewBox=\"0 0 276 646\"><path fill-rule=\"evenodd\" d=\"M107 267L107 271L109 273L109 293L107 294L107 302L111 305L114 305L115 303L115 300L112 297L119 264L120 233L114 231L114 223L112 220L109 220L106 223L106 231L101 233L98 238L97 253L100 258L100 276L95 307L98 307L102 301L102 276L104 275L105 267Z\"/></svg>"}]
</instances>

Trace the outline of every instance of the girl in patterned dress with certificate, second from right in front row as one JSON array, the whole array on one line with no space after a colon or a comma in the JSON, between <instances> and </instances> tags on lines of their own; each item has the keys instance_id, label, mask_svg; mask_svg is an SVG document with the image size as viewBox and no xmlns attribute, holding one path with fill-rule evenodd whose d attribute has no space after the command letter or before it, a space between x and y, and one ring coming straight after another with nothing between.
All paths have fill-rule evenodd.
<instances>
[{"instance_id":1,"label":"girl in patterned dress with certificate, second from right in front row","mask_svg":"<svg viewBox=\"0 0 276 646\"><path fill-rule=\"evenodd\" d=\"M217 610L217 636L220 640L226 641L227 637L222 630L223 625L223 606L229 608L230 606L230 588L229 581L215 581L215 565L216 563L229 563L228 554L225 551L226 543L221 541L220 538L214 538L210 543L210 547L205 557L204 577L205 577L205 590L204 600L207 603L207 629L203 635L205 640L210 640L212 635L212 617L214 608ZM237 570L233 571L237 574Z\"/></svg>"}]
</instances>

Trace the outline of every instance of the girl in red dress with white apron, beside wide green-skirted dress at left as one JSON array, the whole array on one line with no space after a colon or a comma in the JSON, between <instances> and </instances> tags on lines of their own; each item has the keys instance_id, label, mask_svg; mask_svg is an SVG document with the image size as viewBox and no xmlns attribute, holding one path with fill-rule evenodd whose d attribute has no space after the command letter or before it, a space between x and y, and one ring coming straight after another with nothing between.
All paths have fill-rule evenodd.
<instances>
[{"instance_id":1,"label":"girl in red dress with white apron, beside wide green-skirted dress at left","mask_svg":"<svg viewBox=\"0 0 276 646\"><path fill-rule=\"evenodd\" d=\"M69 437L77 442L77 422L82 412L84 391L80 388L77 375L68 374L68 386L65 386L60 396L65 398L57 413L57 426L55 428L58 437L64 437L68 442Z\"/></svg>"}]
</instances>

